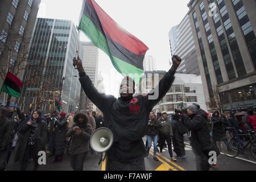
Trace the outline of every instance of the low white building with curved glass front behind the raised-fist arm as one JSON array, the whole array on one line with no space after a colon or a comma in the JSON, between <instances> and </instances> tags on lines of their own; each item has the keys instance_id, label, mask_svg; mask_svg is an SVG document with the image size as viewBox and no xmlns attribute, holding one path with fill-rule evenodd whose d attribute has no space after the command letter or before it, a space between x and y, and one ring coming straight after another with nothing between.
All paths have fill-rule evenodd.
<instances>
[{"instance_id":1,"label":"low white building with curved glass front behind the raised-fist arm","mask_svg":"<svg viewBox=\"0 0 256 182\"><path fill-rule=\"evenodd\" d=\"M137 94L150 93L165 74L166 71L145 72L139 88L137 88L139 90ZM168 114L173 114L181 104L186 107L193 103L199 104L202 109L207 110L201 76L176 73L170 90L153 110L155 113L167 111Z\"/></svg>"}]
</instances>

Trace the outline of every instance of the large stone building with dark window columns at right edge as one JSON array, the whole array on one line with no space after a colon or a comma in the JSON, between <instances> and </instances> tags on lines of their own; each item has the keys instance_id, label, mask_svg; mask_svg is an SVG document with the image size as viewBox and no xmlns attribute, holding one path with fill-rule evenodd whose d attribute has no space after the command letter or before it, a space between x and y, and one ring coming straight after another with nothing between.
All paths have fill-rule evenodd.
<instances>
[{"instance_id":1,"label":"large stone building with dark window columns at right edge","mask_svg":"<svg viewBox=\"0 0 256 182\"><path fill-rule=\"evenodd\" d=\"M255 107L256 2L191 0L188 6L208 107Z\"/></svg>"}]
</instances>

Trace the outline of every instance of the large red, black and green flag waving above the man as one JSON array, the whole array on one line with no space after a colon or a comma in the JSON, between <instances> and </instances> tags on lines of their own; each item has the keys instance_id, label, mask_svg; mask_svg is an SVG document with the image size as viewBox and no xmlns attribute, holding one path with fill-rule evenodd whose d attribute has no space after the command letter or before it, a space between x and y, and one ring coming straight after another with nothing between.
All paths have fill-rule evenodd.
<instances>
[{"instance_id":1,"label":"large red, black and green flag waving above the man","mask_svg":"<svg viewBox=\"0 0 256 182\"><path fill-rule=\"evenodd\" d=\"M123 30L95 1L86 0L82 11L79 30L108 54L115 69L123 76L142 74L148 47Z\"/></svg>"}]
</instances>

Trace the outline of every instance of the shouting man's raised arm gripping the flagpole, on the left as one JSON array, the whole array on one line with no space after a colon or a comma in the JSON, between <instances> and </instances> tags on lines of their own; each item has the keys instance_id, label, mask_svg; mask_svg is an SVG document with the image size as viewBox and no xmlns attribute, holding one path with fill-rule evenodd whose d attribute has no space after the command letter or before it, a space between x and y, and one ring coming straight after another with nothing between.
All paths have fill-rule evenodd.
<instances>
[{"instance_id":1,"label":"shouting man's raised arm gripping the flagpole, on the left","mask_svg":"<svg viewBox=\"0 0 256 182\"><path fill-rule=\"evenodd\" d=\"M106 96L106 94L101 94L98 92L98 90L93 85L92 80L90 80L89 76L86 75L84 68L82 67L82 61L80 57L78 57L78 59L73 59L73 65L77 66L77 71L79 71L80 77L79 80L86 96L90 101L93 102L93 104L98 107L98 109L104 112L105 109L108 108L106 105L112 103L112 101L115 100L114 96Z\"/></svg>"}]
</instances>

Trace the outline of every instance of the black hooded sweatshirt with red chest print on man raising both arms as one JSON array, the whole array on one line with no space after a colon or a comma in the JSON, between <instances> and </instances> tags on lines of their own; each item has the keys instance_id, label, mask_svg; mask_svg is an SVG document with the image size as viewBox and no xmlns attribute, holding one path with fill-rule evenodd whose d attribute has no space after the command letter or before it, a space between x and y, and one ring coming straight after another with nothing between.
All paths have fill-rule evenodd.
<instances>
[{"instance_id":1,"label":"black hooded sweatshirt with red chest print on man raising both arms","mask_svg":"<svg viewBox=\"0 0 256 182\"><path fill-rule=\"evenodd\" d=\"M107 151L108 159L123 163L143 159L146 148L142 138L147 133L150 111L170 90L175 72L170 70L159 82L158 99L150 100L148 94L130 101L100 94L85 73L79 75L86 96L104 113L104 126L113 132L114 143Z\"/></svg>"}]
</instances>

